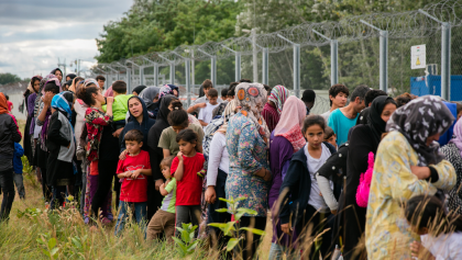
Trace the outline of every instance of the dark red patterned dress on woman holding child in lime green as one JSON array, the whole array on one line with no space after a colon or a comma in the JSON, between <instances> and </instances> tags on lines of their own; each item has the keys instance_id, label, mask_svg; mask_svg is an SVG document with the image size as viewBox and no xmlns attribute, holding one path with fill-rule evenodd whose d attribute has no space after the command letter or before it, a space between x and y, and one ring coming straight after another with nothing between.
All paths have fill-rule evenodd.
<instances>
[{"instance_id":1,"label":"dark red patterned dress on woman holding child in lime green","mask_svg":"<svg viewBox=\"0 0 462 260\"><path fill-rule=\"evenodd\" d=\"M102 127L112 122L112 116L106 115L105 112L98 109L88 108L85 112L85 120L88 132L87 159L88 161L98 160Z\"/></svg>"}]
</instances>

